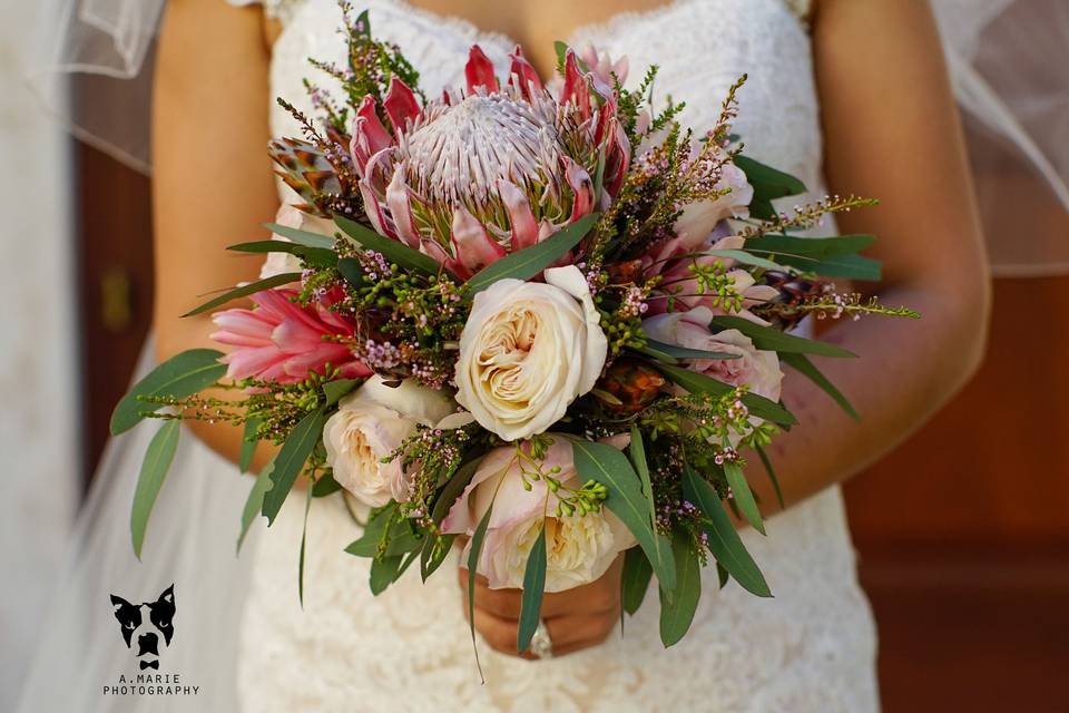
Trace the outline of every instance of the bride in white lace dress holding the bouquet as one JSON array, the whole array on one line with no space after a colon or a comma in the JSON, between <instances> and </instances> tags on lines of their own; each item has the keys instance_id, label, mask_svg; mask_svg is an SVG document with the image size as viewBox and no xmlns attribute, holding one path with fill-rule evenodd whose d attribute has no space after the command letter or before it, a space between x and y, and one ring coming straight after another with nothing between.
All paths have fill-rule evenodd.
<instances>
[{"instance_id":1,"label":"bride in white lace dress holding the bouquet","mask_svg":"<svg viewBox=\"0 0 1069 713\"><path fill-rule=\"evenodd\" d=\"M964 383L981 356L989 301L962 138L926 4L360 4L369 8L373 31L400 45L413 61L429 94L462 84L473 42L499 67L507 66L512 46L522 43L545 77L555 65L552 41L566 38L573 46L592 43L614 59L626 55L632 80L647 66L659 65L656 100L686 97L680 118L700 129L714 120L730 82L748 74L735 125L747 154L797 175L813 188L813 197L825 192L877 196L880 207L843 215L838 228L880 236L873 256L884 264L883 300L909 304L924 319L827 330L825 339L861 355L822 364L863 414L860 422L807 381L788 374L784 400L802 426L779 439L772 453L788 507L769 522L768 538L744 533L775 599L758 599L737 586L718 592L714 574L703 586L712 594L703 597L688 636L666 651L649 603L621 632L615 567L591 585L547 596L543 613L553 656L532 662L514 653L518 594L480 587L474 624L484 685L457 577L445 568L425 586L405 577L373 598L365 584L369 560L342 551L356 537L356 526L340 498L312 506L303 611L295 576L301 498L290 499L272 531L247 543L239 560L228 559L233 540L198 537L216 512L234 518L248 482L235 482L227 462L236 460L239 432L193 422L189 428L203 443L187 439L182 447L167 488L184 490L160 497L163 511L153 516L146 564L135 569L137 582L108 582L97 589L144 586L149 594L157 584L155 592L175 580L175 641L186 647L186 656L174 661L184 662L187 681L200 676L204 690L194 702L120 703L98 696L91 705L876 711L876 636L857 586L836 484L900 442ZM279 194L265 147L271 136L295 135L297 127L273 99L285 97L306 108L300 101L305 96L302 79L318 79L306 59L342 59L340 21L335 0L169 3L154 107L158 358L209 343L207 316L177 316L193 306L193 295L255 277L257 265L218 256L248 236L251 226L273 216L279 201L292 198ZM139 451L137 446L124 448ZM136 469L118 446L112 451L106 470ZM269 458L266 450L257 456L259 465ZM775 497L766 480L754 475L754 487L771 508ZM903 487L912 487L916 475L903 473ZM180 508L166 505L175 499L183 501ZM108 514L101 506L95 515L89 519ZM219 549L226 550L223 556L214 554ZM459 572L459 565L453 568ZM92 576L102 582L98 572ZM100 628L101 641L109 636L105 631ZM121 641L112 638L119 637L101 645L119 649ZM100 675L114 677L121 665ZM88 677L81 675L80 683ZM58 695L45 685L28 687L39 701Z\"/></svg>"}]
</instances>

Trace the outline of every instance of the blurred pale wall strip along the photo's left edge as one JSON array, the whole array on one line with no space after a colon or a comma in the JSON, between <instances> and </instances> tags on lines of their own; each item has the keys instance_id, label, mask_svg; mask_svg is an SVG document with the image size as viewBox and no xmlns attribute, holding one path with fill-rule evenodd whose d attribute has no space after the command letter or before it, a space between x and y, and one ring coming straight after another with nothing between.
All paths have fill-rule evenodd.
<instances>
[{"instance_id":1,"label":"blurred pale wall strip along the photo's left edge","mask_svg":"<svg viewBox=\"0 0 1069 713\"><path fill-rule=\"evenodd\" d=\"M24 84L37 3L0 4L0 711L14 706L81 490L70 139Z\"/></svg>"}]
</instances>

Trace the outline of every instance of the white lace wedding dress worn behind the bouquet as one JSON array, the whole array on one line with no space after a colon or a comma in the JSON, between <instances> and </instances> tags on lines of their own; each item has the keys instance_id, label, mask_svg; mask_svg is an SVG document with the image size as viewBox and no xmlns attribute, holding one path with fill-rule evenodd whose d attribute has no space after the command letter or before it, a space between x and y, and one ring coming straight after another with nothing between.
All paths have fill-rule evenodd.
<instances>
[{"instance_id":1,"label":"white lace wedding dress worn behind the bouquet","mask_svg":"<svg viewBox=\"0 0 1069 713\"><path fill-rule=\"evenodd\" d=\"M249 0L232 0L248 3ZM434 94L463 84L479 42L503 68L512 42L390 0L363 0L374 32L399 43ZM684 124L712 125L727 87L749 75L735 130L747 153L822 184L821 128L805 8L787 0L676 0L651 12L581 28L631 79L660 66L657 96L686 98ZM306 58L343 59L335 0L267 1L284 31L274 47L272 94L302 105ZM274 102L274 134L297 128ZM650 593L620 635L560 660L529 663L481 646L480 684L454 564L423 585L409 573L377 598L369 560L342 551L359 535L339 498L316 501L308 522L304 611L296 592L303 498L291 498L261 538L239 645L247 711L784 711L865 713L879 707L875 632L857 586L838 488L744 533L774 599L706 570L689 634L665 649Z\"/></svg>"}]
</instances>

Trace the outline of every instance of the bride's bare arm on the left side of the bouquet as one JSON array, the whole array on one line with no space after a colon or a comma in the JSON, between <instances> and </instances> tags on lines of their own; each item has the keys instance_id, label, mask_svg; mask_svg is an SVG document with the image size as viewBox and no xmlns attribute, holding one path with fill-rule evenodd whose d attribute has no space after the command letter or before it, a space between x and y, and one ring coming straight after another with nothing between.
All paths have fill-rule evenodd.
<instances>
[{"instance_id":1,"label":"bride's bare arm on the left side of the bouquet","mask_svg":"<svg viewBox=\"0 0 1069 713\"><path fill-rule=\"evenodd\" d=\"M258 10L223 0L167 3L153 104L154 324L160 359L216 346L208 339L210 315L179 315L198 304L198 295L257 276L255 257L224 248L255 240L257 226L277 208L266 150L267 67ZM213 449L237 458L241 429L187 423Z\"/></svg>"}]
</instances>

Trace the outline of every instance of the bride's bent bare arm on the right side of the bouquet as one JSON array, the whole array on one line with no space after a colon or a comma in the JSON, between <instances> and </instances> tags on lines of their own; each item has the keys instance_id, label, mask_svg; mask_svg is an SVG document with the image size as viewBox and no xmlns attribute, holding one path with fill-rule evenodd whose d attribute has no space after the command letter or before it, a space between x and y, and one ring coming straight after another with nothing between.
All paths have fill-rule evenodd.
<instances>
[{"instance_id":1,"label":"bride's bent bare arm on the right side of the bouquet","mask_svg":"<svg viewBox=\"0 0 1069 713\"><path fill-rule=\"evenodd\" d=\"M990 302L961 129L926 3L821 0L813 39L831 191L880 198L879 207L841 215L840 228L879 236L881 300L923 319L866 318L823 335L860 355L818 364L860 422L790 373L784 400L801 423L772 451L788 505L872 463L965 383L982 356ZM759 470L751 468L752 481L772 509Z\"/></svg>"}]
</instances>

